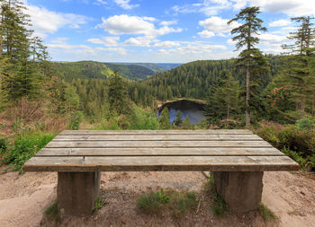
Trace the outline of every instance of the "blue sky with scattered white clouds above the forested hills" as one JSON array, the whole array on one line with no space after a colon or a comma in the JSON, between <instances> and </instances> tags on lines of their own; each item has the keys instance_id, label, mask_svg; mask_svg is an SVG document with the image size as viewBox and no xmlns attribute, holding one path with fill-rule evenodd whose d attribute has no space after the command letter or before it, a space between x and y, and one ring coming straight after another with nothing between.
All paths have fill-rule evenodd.
<instances>
[{"instance_id":1,"label":"blue sky with scattered white clouds above the forested hills","mask_svg":"<svg viewBox=\"0 0 315 227\"><path fill-rule=\"evenodd\" d=\"M283 52L290 18L315 15L314 0L24 0L53 61L187 63L237 57L227 25L259 6L265 53Z\"/></svg>"}]
</instances>

